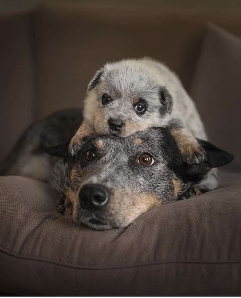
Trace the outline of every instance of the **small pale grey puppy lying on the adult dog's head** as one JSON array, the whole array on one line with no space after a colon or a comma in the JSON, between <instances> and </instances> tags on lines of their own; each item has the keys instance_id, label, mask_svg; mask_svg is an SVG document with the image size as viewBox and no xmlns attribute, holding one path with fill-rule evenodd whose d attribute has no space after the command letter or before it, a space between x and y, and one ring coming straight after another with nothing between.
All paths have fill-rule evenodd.
<instances>
[{"instance_id":1,"label":"small pale grey puppy lying on the adult dog's head","mask_svg":"<svg viewBox=\"0 0 241 298\"><path fill-rule=\"evenodd\" d=\"M177 76L150 58L105 64L88 84L83 118L69 145L72 155L86 135L128 137L160 126L171 128L183 161L198 163L205 156L195 139L207 139L195 104ZM202 182L205 190L217 185L217 171Z\"/></svg>"}]
</instances>

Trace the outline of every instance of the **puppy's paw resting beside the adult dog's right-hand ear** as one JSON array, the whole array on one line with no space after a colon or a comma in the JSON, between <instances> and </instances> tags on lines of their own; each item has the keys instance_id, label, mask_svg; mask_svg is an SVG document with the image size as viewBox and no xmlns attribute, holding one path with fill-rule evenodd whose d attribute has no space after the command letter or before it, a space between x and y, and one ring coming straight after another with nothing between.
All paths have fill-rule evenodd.
<instances>
[{"instance_id":1,"label":"puppy's paw resting beside the adult dog's right-hand ear","mask_svg":"<svg viewBox=\"0 0 241 298\"><path fill-rule=\"evenodd\" d=\"M183 149L183 150L182 150ZM204 160L206 151L197 144L189 144L184 148L181 148L181 155L184 162L188 164L200 163Z\"/></svg>"}]
</instances>

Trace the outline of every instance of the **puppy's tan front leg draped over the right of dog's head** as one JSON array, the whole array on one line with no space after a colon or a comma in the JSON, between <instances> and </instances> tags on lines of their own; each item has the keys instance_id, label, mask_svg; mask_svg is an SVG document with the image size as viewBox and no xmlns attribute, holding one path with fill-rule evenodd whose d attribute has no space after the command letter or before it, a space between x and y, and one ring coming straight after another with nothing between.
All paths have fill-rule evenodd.
<instances>
[{"instance_id":1,"label":"puppy's tan front leg draped over the right of dog's head","mask_svg":"<svg viewBox=\"0 0 241 298\"><path fill-rule=\"evenodd\" d=\"M189 164L199 163L205 157L205 150L187 128L171 127L170 132L179 147L182 159Z\"/></svg>"}]
</instances>

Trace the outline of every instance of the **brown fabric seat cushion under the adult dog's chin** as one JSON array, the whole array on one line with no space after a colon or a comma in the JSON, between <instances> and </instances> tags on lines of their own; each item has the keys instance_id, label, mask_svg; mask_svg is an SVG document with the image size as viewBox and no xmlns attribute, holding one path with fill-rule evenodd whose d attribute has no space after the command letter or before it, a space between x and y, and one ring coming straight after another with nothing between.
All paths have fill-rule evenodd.
<instances>
[{"instance_id":1,"label":"brown fabric seat cushion under the adult dog's chin","mask_svg":"<svg viewBox=\"0 0 241 298\"><path fill-rule=\"evenodd\" d=\"M41 295L241 294L241 175L96 231L55 212L57 194L0 178L0 292Z\"/></svg>"}]
</instances>

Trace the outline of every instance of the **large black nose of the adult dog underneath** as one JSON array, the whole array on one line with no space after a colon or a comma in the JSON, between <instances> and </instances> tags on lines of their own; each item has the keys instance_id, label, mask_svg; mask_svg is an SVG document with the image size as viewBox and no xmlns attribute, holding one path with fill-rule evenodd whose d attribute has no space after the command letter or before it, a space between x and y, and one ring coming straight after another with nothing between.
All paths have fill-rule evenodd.
<instances>
[{"instance_id":1,"label":"large black nose of the adult dog underneath","mask_svg":"<svg viewBox=\"0 0 241 298\"><path fill-rule=\"evenodd\" d=\"M86 210L100 210L109 200L109 190L98 184L85 184L79 192L80 206Z\"/></svg>"}]
</instances>

